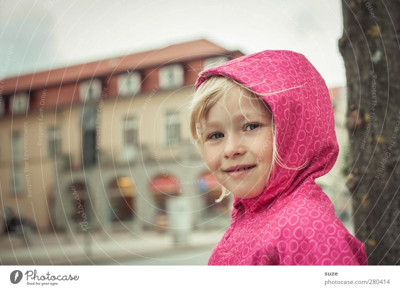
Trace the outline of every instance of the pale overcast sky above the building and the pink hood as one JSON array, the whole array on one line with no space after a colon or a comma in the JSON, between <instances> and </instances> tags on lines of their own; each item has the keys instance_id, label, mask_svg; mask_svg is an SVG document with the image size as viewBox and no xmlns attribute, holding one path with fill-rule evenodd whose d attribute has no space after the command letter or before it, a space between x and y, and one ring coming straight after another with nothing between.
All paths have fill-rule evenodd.
<instances>
[{"instance_id":1,"label":"pale overcast sky above the building and the pink hood","mask_svg":"<svg viewBox=\"0 0 400 290\"><path fill-rule=\"evenodd\" d=\"M294 50L345 84L340 0L0 0L0 27L1 78L206 38Z\"/></svg>"}]
</instances>

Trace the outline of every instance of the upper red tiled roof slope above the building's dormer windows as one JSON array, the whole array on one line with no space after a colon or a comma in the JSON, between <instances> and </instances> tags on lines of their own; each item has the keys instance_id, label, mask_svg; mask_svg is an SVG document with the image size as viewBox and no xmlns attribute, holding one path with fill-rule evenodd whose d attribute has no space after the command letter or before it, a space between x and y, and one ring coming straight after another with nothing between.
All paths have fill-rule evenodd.
<instances>
[{"instance_id":1,"label":"upper red tiled roof slope above the building's dormer windows","mask_svg":"<svg viewBox=\"0 0 400 290\"><path fill-rule=\"evenodd\" d=\"M58 86L61 83L71 83L131 69L154 67L168 62L186 61L212 54L232 52L206 39L199 39L159 49L10 77L4 80L2 93L9 94L15 91Z\"/></svg>"}]
</instances>

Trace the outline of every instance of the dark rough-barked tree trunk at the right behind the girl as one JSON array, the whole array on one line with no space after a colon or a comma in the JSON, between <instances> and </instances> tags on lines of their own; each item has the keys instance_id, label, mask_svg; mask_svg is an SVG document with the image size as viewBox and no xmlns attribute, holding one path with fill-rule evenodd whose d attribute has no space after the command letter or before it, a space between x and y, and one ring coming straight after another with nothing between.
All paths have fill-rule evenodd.
<instances>
[{"instance_id":1,"label":"dark rough-barked tree trunk at the right behind the girl","mask_svg":"<svg viewBox=\"0 0 400 290\"><path fill-rule=\"evenodd\" d=\"M355 236L368 265L400 265L400 1L343 0Z\"/></svg>"}]
</instances>

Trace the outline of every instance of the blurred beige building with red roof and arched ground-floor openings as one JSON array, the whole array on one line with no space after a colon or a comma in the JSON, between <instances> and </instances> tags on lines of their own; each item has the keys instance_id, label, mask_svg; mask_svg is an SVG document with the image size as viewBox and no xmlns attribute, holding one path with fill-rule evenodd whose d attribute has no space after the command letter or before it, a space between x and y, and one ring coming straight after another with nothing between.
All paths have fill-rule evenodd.
<instances>
[{"instance_id":1,"label":"blurred beige building with red roof and arched ground-floor openings","mask_svg":"<svg viewBox=\"0 0 400 290\"><path fill-rule=\"evenodd\" d=\"M1 206L41 230L162 231L185 198L195 228L225 226L188 101L202 69L241 55L197 40L5 79Z\"/></svg>"}]
</instances>

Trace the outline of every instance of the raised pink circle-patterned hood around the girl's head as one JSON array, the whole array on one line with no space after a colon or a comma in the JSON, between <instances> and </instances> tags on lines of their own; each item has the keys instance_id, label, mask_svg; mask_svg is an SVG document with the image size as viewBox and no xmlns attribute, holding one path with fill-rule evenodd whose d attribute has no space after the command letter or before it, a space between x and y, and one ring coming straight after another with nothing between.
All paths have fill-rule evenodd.
<instances>
[{"instance_id":1,"label":"raised pink circle-patterned hood around the girl's head","mask_svg":"<svg viewBox=\"0 0 400 290\"><path fill-rule=\"evenodd\" d=\"M234 197L256 211L301 185L315 184L334 165L338 144L332 104L325 81L304 55L289 50L264 50L203 70L195 90L212 75L224 75L246 86L268 103L275 121L276 148L286 169L275 164L263 192L250 199ZM293 88L294 87L294 88ZM261 94L271 93L263 96Z\"/></svg>"}]
</instances>

